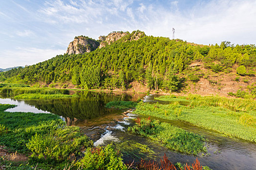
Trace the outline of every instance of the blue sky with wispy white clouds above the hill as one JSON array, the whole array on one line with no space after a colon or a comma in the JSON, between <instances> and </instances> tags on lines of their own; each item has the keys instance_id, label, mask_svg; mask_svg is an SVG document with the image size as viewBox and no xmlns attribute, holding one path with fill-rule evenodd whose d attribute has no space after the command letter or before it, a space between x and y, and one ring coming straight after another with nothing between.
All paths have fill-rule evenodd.
<instances>
[{"instance_id":1,"label":"blue sky with wispy white clouds above the hill","mask_svg":"<svg viewBox=\"0 0 256 170\"><path fill-rule=\"evenodd\" d=\"M0 68L64 54L77 35L112 31L197 44L256 44L256 0L0 0Z\"/></svg>"}]
</instances>

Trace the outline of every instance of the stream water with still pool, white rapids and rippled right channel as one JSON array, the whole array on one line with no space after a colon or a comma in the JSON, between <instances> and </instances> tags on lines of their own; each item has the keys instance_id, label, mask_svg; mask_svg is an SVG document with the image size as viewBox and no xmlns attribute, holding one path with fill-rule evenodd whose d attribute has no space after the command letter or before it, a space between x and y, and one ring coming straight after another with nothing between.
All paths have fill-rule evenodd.
<instances>
[{"instance_id":1,"label":"stream water with still pool, white rapids and rippled right channel","mask_svg":"<svg viewBox=\"0 0 256 170\"><path fill-rule=\"evenodd\" d=\"M61 116L68 126L76 125L89 136L94 145L106 145L114 142L116 145L128 143L128 145L142 144L147 146L149 153L139 153L138 149L127 147L130 151L124 152L125 160L137 159L144 156L146 159L154 159L159 162L164 153L172 163L181 162L192 164L196 156L173 152L160 143L156 143L142 136L127 133L127 128L134 124L136 117L142 115L121 113L125 110L107 109L104 106L110 101L137 101L161 102L154 100L154 95L126 94L126 93L104 93L76 91L80 97L53 100L14 100L0 98L0 103L16 104L17 107L7 109L7 112L33 112L53 113ZM181 103L187 104L187 103ZM159 119L153 118L151 119ZM212 130L207 130L185 121L171 121L159 119L171 125L180 127L187 131L203 135L208 139L208 154L198 155L201 165L209 166L213 170L256 170L256 143L232 138Z\"/></svg>"}]
</instances>

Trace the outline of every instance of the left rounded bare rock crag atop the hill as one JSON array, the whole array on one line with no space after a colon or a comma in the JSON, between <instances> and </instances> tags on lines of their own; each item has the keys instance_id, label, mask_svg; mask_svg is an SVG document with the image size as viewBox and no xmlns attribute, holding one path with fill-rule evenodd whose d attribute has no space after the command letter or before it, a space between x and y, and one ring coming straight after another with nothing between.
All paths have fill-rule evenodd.
<instances>
[{"instance_id":1,"label":"left rounded bare rock crag atop the hill","mask_svg":"<svg viewBox=\"0 0 256 170\"><path fill-rule=\"evenodd\" d=\"M81 54L91 52L99 47L100 43L87 36L76 36L75 39L69 43L67 47L67 54Z\"/></svg>"}]
</instances>

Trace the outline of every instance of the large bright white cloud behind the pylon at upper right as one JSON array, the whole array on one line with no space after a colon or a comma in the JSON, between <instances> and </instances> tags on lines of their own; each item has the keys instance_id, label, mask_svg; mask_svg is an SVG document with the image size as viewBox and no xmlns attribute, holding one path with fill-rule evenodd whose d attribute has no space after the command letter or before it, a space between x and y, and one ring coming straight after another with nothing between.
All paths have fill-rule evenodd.
<instances>
[{"instance_id":1,"label":"large bright white cloud behind the pylon at upper right","mask_svg":"<svg viewBox=\"0 0 256 170\"><path fill-rule=\"evenodd\" d=\"M144 23L146 34L172 37L200 44L215 44L224 40L233 43L255 44L256 1L254 0L212 0L198 3L187 12L172 12L152 7L148 11L148 22ZM148 9L150 6L147 7ZM179 10L181 11L181 10ZM251 34L251 38L245 34Z\"/></svg>"}]
</instances>

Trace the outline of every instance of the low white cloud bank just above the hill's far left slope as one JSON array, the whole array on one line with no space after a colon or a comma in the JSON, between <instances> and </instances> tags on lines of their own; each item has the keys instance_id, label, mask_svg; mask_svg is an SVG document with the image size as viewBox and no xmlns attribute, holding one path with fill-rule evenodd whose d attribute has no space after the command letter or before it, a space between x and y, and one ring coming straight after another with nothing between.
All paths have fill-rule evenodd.
<instances>
[{"instance_id":1,"label":"low white cloud bank just above the hill's far left slope","mask_svg":"<svg viewBox=\"0 0 256 170\"><path fill-rule=\"evenodd\" d=\"M3 51L0 56L0 68L33 65L43 62L56 55L64 54L64 50L17 48L15 50Z\"/></svg>"}]
</instances>

